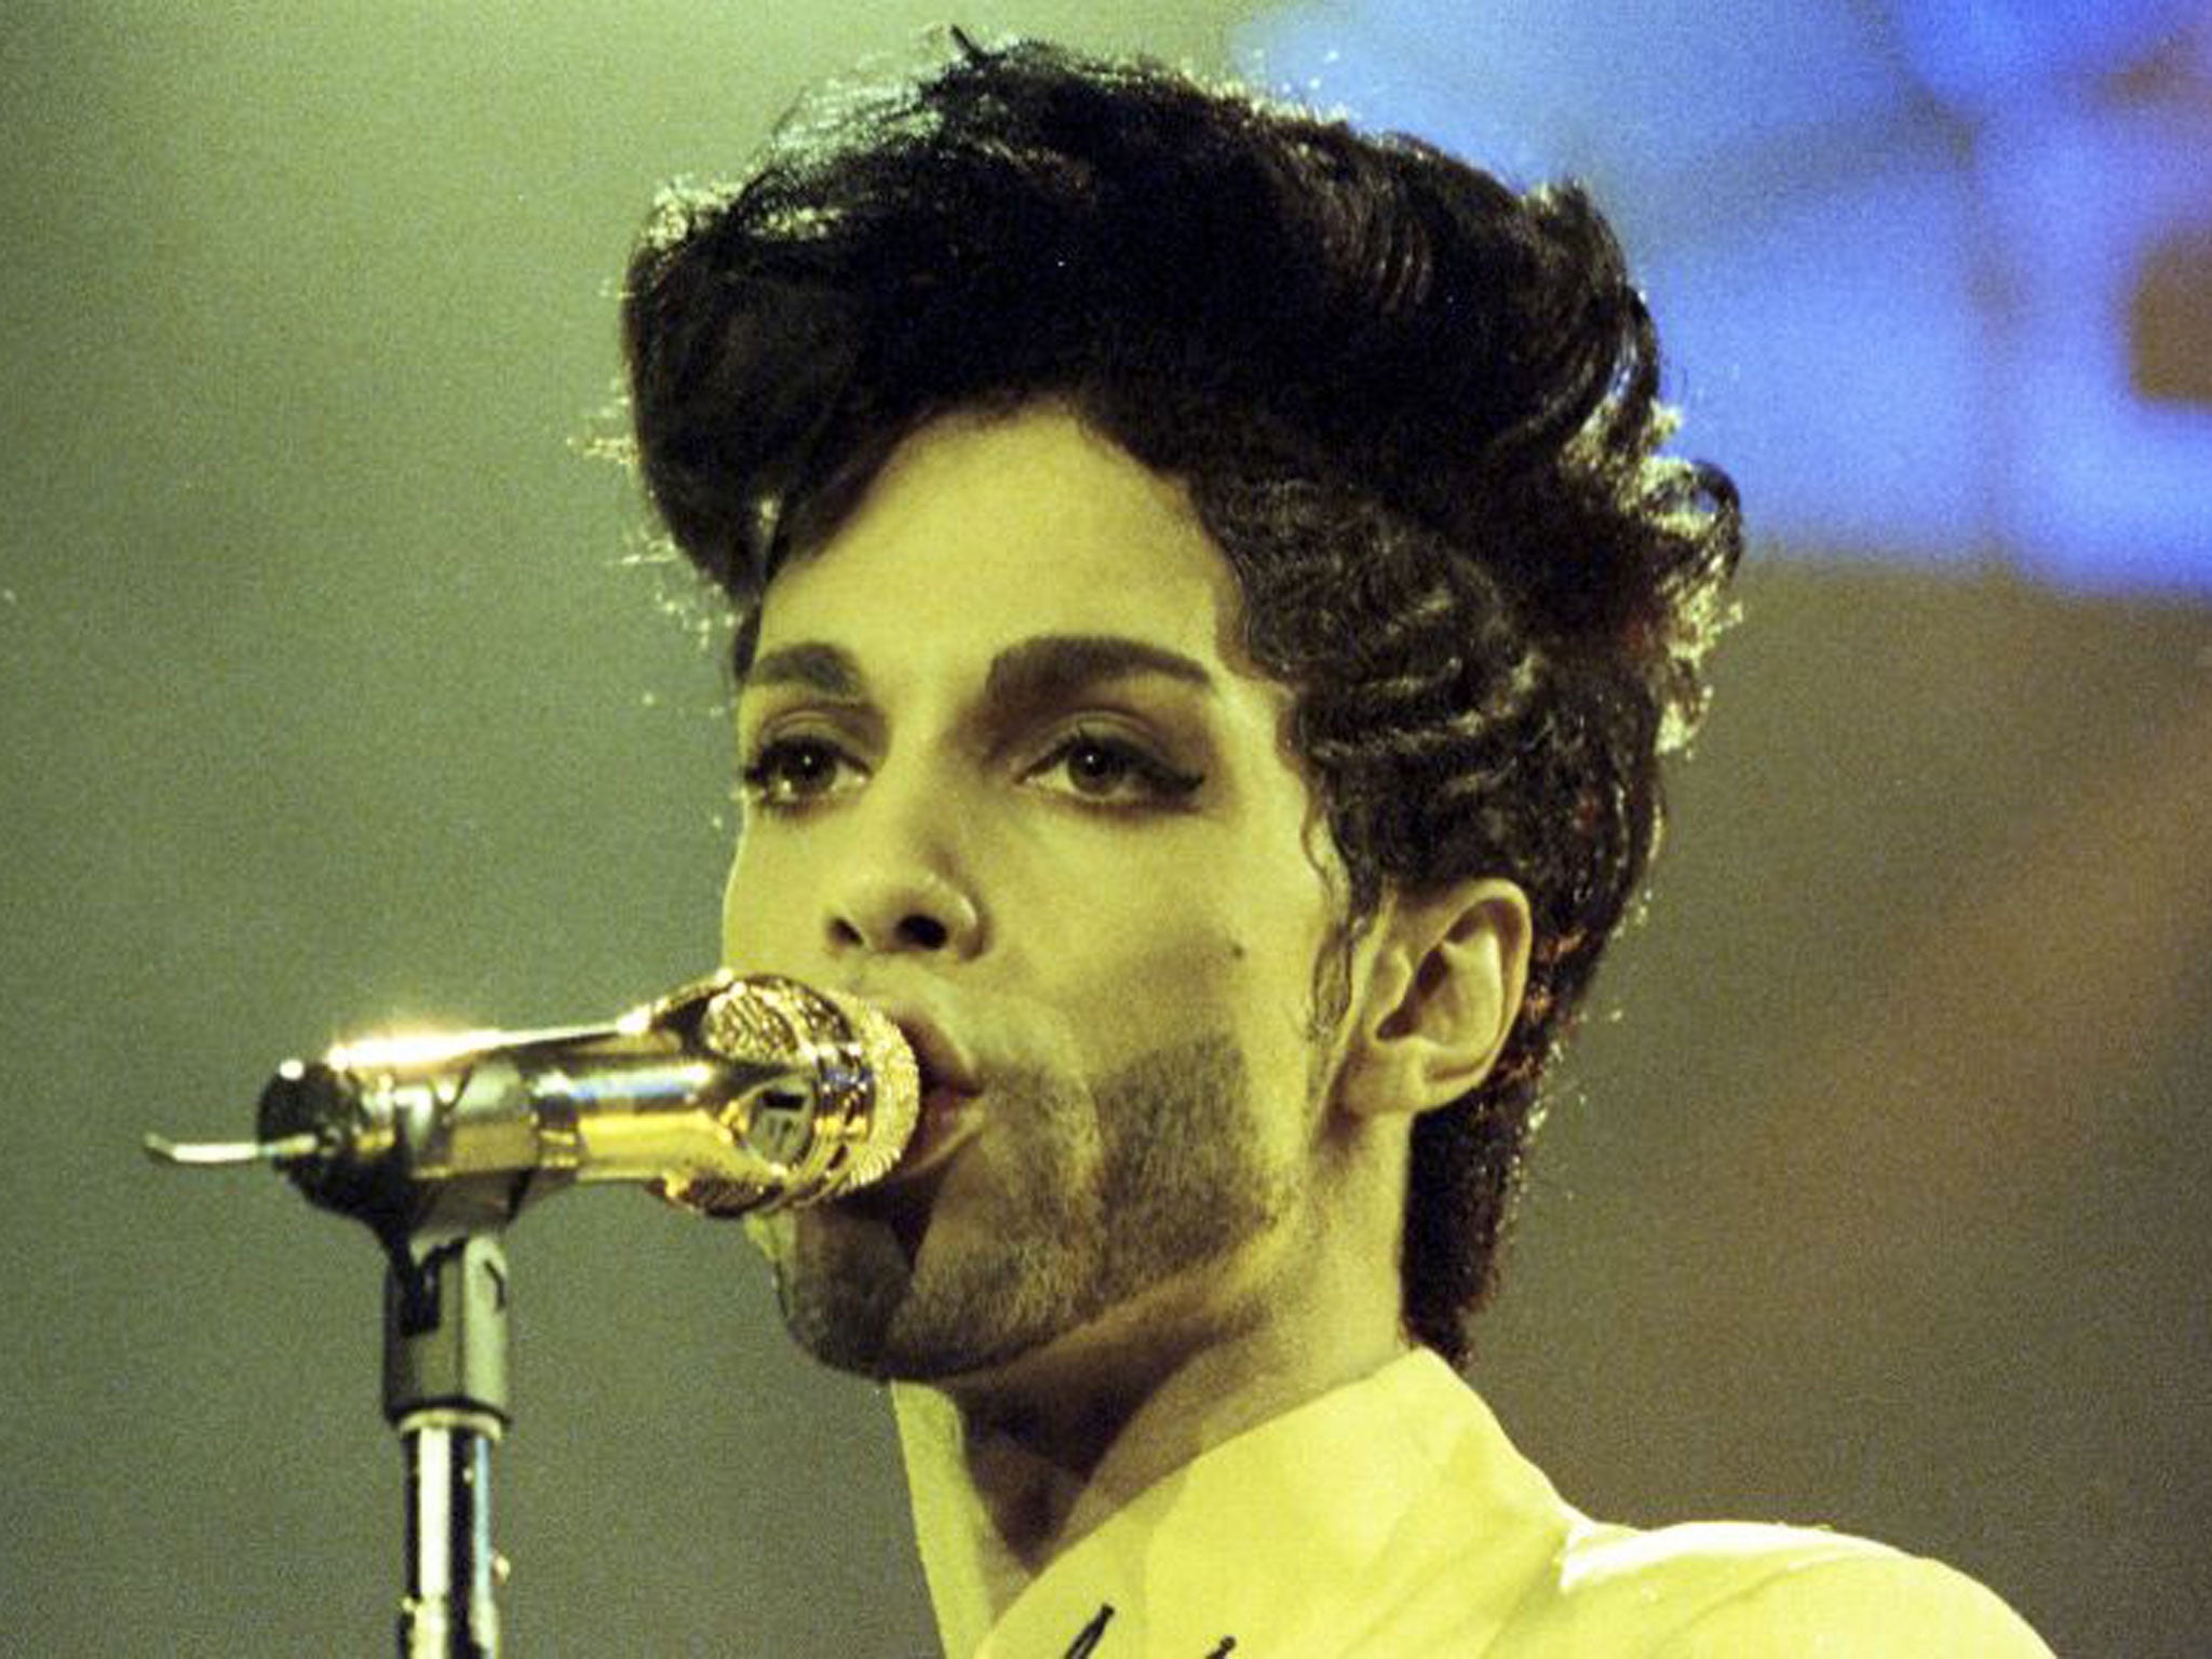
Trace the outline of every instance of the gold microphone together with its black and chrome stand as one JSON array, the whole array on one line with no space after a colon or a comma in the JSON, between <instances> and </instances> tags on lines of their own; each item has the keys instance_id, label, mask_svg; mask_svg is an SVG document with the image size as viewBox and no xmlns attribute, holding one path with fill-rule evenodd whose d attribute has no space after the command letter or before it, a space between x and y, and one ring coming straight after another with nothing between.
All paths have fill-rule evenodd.
<instances>
[{"instance_id":1,"label":"gold microphone together with its black and chrome stand","mask_svg":"<svg viewBox=\"0 0 2212 1659\"><path fill-rule=\"evenodd\" d=\"M498 1659L491 1451L507 1394L500 1228L577 1179L741 1214L883 1177L920 1075L858 1000L730 973L604 1026L369 1042L288 1060L252 1141L146 1137L164 1164L270 1164L385 1248L385 1420L407 1462L400 1659Z\"/></svg>"}]
</instances>

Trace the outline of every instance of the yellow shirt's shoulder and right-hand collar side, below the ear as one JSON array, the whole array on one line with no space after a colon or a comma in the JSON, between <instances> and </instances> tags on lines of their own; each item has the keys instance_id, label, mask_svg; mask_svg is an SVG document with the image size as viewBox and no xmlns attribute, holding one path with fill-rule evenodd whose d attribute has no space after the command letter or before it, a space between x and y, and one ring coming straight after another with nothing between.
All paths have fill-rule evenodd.
<instances>
[{"instance_id":1,"label":"yellow shirt's shoulder and right-hand collar side, below the ear","mask_svg":"<svg viewBox=\"0 0 2212 1659\"><path fill-rule=\"evenodd\" d=\"M1263 1422L1055 1559L975 1659L2048 1659L1936 1562L1794 1526L1568 1506L1418 1349Z\"/></svg>"}]
</instances>

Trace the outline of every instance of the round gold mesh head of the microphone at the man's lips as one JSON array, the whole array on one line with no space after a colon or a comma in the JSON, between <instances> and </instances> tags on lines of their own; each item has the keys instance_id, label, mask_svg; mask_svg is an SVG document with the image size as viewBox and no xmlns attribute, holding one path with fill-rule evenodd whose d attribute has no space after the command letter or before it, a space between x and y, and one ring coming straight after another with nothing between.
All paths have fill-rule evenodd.
<instances>
[{"instance_id":1,"label":"round gold mesh head of the microphone at the man's lips","mask_svg":"<svg viewBox=\"0 0 2212 1659\"><path fill-rule=\"evenodd\" d=\"M898 1026L860 998L781 975L717 984L697 1042L719 1060L785 1073L726 1119L763 1175L684 1175L664 1181L661 1197L741 1214L821 1203L889 1175L922 1113L920 1066Z\"/></svg>"}]
</instances>

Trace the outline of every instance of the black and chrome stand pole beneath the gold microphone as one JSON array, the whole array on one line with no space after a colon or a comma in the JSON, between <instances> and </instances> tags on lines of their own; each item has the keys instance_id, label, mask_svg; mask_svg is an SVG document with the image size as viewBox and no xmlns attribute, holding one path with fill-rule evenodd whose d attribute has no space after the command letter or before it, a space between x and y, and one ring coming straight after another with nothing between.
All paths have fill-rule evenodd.
<instances>
[{"instance_id":1,"label":"black and chrome stand pole beneath the gold microphone","mask_svg":"<svg viewBox=\"0 0 2212 1659\"><path fill-rule=\"evenodd\" d=\"M495 1232L394 1241L385 1420L407 1460L400 1659L498 1659L507 1562L491 1546L491 1449L507 1394L507 1250Z\"/></svg>"}]
</instances>

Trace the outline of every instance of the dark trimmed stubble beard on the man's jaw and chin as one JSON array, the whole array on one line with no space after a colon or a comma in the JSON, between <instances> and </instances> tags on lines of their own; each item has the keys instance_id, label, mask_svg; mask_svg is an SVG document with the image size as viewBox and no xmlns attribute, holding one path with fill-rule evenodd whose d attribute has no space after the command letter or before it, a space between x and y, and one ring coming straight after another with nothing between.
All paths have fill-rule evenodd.
<instances>
[{"instance_id":1,"label":"dark trimmed stubble beard on the man's jaw and chin","mask_svg":"<svg viewBox=\"0 0 2212 1659\"><path fill-rule=\"evenodd\" d=\"M1225 1261L1296 1194L1225 1035L1095 1082L1004 1071L980 1108L936 1172L750 1223L783 1323L825 1365L909 1383L1006 1365Z\"/></svg>"}]
</instances>

